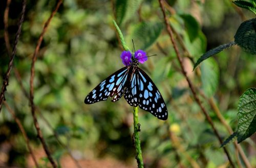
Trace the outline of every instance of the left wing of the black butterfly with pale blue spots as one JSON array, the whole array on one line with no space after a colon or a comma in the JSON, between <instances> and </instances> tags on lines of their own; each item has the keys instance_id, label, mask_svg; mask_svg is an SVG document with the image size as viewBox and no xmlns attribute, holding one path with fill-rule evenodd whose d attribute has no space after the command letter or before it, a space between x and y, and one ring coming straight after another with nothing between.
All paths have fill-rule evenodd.
<instances>
[{"instance_id":1,"label":"left wing of the black butterfly with pale blue spots","mask_svg":"<svg viewBox=\"0 0 256 168\"><path fill-rule=\"evenodd\" d=\"M123 67L99 83L84 99L84 103L92 104L114 97L111 101L119 100L124 91L130 66Z\"/></svg>"}]
</instances>

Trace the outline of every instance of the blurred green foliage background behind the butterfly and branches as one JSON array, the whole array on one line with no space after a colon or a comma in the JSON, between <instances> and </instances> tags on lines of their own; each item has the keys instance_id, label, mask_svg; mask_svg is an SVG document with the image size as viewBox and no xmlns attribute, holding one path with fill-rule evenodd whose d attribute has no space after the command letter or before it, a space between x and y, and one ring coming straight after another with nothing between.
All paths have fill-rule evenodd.
<instances>
[{"instance_id":1,"label":"blurred green foliage background behind the butterfly and branches","mask_svg":"<svg viewBox=\"0 0 256 168\"><path fill-rule=\"evenodd\" d=\"M4 40L5 0L0 2L0 83L8 68ZM42 167L49 161L36 136L31 116L29 79L32 55L55 1L28 1L14 67L5 94L6 102L22 122ZM123 3L126 3L123 6ZM11 46L17 31L22 2L12 0L8 18ZM237 46L217 54L193 71L206 50L233 41L239 25L254 15L228 0L172 1L165 3L189 78L223 139L230 133L208 100L216 103L227 124L237 130L237 105L242 93L256 86L256 58ZM75 167L68 151L81 167L136 167L133 146L133 108L121 98L86 105L87 94L123 67L122 47L112 20L120 26L127 45L144 49L148 58L142 68L155 82L168 108L168 120L160 121L139 110L141 146L146 167L227 167L218 139L205 121L189 91L163 24L158 1L65 0L53 17L35 63L34 103L37 119L55 160L62 167ZM180 40L178 40L180 39ZM183 49L186 51L183 51ZM205 96L205 97L203 97ZM67 146L63 148L56 136ZM256 137L241 146L256 166ZM238 165L236 149L227 145ZM243 161L241 161L244 165ZM17 124L5 105L0 114L0 166L33 167L34 163Z\"/></svg>"}]
</instances>

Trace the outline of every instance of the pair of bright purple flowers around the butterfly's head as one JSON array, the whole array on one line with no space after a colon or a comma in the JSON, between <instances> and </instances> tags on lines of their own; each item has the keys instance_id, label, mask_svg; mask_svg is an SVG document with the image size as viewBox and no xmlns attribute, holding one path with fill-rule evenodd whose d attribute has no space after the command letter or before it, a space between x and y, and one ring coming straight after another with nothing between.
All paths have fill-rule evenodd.
<instances>
[{"instance_id":1,"label":"pair of bright purple flowers around the butterfly's head","mask_svg":"<svg viewBox=\"0 0 256 168\"><path fill-rule=\"evenodd\" d=\"M143 64L147 61L146 52L139 49L132 54L130 51L123 51L120 55L122 62L125 66L129 66L131 64L138 65L139 63Z\"/></svg>"}]
</instances>

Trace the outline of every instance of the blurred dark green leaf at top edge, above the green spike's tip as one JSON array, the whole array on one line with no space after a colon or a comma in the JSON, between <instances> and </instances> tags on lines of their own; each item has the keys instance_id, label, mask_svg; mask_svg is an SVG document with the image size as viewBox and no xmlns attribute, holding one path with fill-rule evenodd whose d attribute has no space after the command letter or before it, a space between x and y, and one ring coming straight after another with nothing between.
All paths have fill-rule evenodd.
<instances>
[{"instance_id":1,"label":"blurred dark green leaf at top edge, above the green spike's tip","mask_svg":"<svg viewBox=\"0 0 256 168\"><path fill-rule=\"evenodd\" d=\"M127 0L116 1L116 20L121 24L126 13Z\"/></svg>"}]
</instances>

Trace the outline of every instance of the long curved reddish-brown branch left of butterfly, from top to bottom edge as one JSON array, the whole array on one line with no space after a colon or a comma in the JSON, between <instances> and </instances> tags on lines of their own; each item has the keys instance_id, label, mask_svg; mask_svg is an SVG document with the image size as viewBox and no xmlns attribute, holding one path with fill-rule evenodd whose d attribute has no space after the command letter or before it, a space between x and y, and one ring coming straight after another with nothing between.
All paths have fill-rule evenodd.
<instances>
[{"instance_id":1,"label":"long curved reddish-brown branch left of butterfly, from top to bottom edge","mask_svg":"<svg viewBox=\"0 0 256 168\"><path fill-rule=\"evenodd\" d=\"M40 142L42 144L42 147L44 147L44 150L47 154L47 157L49 159L49 161L51 162L52 166L53 167L57 167L56 163L54 162L52 156L51 156L51 153L46 145L46 142L45 142L45 139L44 137L42 136L42 132L40 130L40 127L39 127L39 124L37 122L37 119L36 119L36 115L35 115L35 104L34 104L34 87L33 87L33 80L34 80L34 76L35 76L35 61L36 61L36 55L39 51L39 48L40 48L40 45L41 45L41 42L42 42L42 39L46 33L46 30L49 26L49 23L50 21L52 20L53 16L55 15L55 13L57 12L60 4L62 3L62 0L59 0L58 1L58 4L56 6L56 8L54 9L54 11L52 12L51 16L48 18L48 20L46 21L45 25L44 25L44 29L42 30L42 33L37 41L37 45L36 45L36 48L35 48L35 51L33 53L33 58L32 58L32 63L31 63L31 69L30 69L30 72L31 72L31 76L30 76L30 104L31 104L31 113L32 113L32 116L33 116L33 120L34 120L34 125L35 125L35 128L36 128L36 131L37 131L37 135L38 135L38 138L40 139Z\"/></svg>"}]
</instances>

